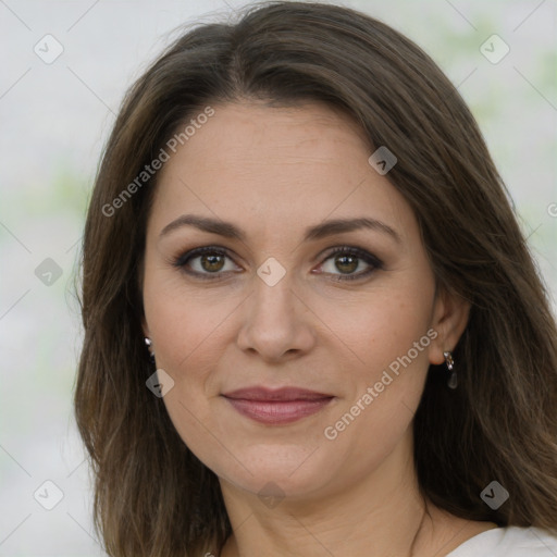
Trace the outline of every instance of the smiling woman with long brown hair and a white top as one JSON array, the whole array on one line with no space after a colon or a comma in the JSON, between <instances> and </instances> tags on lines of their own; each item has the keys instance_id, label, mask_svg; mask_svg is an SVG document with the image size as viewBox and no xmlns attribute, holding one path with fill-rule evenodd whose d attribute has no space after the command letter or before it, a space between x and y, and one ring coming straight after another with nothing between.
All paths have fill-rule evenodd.
<instances>
[{"instance_id":1,"label":"smiling woman with long brown hair and a white top","mask_svg":"<svg viewBox=\"0 0 557 557\"><path fill-rule=\"evenodd\" d=\"M273 3L128 91L75 408L111 556L557 554L557 345L474 119L413 42Z\"/></svg>"}]
</instances>

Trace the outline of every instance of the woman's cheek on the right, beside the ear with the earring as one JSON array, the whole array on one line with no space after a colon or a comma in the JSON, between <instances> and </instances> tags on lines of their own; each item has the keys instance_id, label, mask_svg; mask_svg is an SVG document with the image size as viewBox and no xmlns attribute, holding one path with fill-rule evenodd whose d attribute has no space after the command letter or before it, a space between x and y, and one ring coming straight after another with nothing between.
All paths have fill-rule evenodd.
<instances>
[{"instance_id":1,"label":"woman's cheek on the right, beside the ear with the earring","mask_svg":"<svg viewBox=\"0 0 557 557\"><path fill-rule=\"evenodd\" d=\"M436 336L430 326L433 296L433 283L424 276L422 282L400 281L396 288L375 290L364 304L359 299L344 305L341 313L330 308L327 314L322 308L323 321L335 323L335 335L352 362L346 367L350 394L329 423L327 438L336 436L334 443L355 458L373 457L369 443L354 444L354 438L373 440L383 455L410 425Z\"/></svg>"}]
</instances>

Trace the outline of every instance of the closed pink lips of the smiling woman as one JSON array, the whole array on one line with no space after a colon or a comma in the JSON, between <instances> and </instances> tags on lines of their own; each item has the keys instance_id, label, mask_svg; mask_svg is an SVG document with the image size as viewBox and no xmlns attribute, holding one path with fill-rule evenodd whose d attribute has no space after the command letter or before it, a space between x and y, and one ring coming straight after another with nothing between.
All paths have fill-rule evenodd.
<instances>
[{"instance_id":1,"label":"closed pink lips of the smiling woman","mask_svg":"<svg viewBox=\"0 0 557 557\"><path fill-rule=\"evenodd\" d=\"M269 389L240 388L223 395L242 414L261 423L290 423L325 407L333 395L296 387Z\"/></svg>"}]
</instances>

